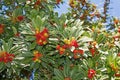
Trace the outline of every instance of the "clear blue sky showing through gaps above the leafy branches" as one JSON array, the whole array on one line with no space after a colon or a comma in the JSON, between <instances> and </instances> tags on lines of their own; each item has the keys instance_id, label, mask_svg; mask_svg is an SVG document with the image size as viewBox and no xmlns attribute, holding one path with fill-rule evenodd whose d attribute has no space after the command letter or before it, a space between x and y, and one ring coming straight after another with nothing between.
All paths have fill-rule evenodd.
<instances>
[{"instance_id":1,"label":"clear blue sky showing through gaps above the leafy branches","mask_svg":"<svg viewBox=\"0 0 120 80\"><path fill-rule=\"evenodd\" d=\"M59 15L61 15L62 13L66 13L68 12L69 8L69 0L63 0L65 3L64 4L60 4L60 8L56 8L55 11L59 13ZM97 4L97 7L99 10L103 10L102 6L104 4L105 0L89 0L95 4ZM110 0L110 5L109 5L109 14L111 16L114 17L118 17L120 18L120 0Z\"/></svg>"}]
</instances>

